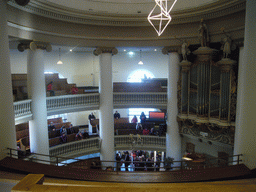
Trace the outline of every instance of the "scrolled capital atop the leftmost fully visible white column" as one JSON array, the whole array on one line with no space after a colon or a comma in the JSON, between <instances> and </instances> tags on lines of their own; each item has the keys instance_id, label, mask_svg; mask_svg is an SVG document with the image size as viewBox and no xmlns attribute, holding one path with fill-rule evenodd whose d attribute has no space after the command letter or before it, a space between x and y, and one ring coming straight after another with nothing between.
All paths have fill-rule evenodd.
<instances>
[{"instance_id":1,"label":"scrolled capital atop the leftmost fully visible white column","mask_svg":"<svg viewBox=\"0 0 256 192\"><path fill-rule=\"evenodd\" d=\"M39 41L24 41L18 45L18 50L20 52L23 52L26 49L30 49L32 51L35 51L36 49L42 49L46 50L47 52L51 52L52 46L49 43Z\"/></svg>"}]
</instances>

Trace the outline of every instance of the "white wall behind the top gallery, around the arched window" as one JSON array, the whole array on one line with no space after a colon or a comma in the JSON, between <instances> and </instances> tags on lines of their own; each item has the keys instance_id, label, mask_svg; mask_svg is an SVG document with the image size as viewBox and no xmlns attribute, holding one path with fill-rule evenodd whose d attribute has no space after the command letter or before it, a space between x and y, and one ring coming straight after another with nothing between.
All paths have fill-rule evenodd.
<instances>
[{"instance_id":1,"label":"white wall behind the top gallery, around the arched window","mask_svg":"<svg viewBox=\"0 0 256 192\"><path fill-rule=\"evenodd\" d=\"M68 83L77 86L99 85L99 57L90 52L62 52L63 65L57 65L59 53L44 53L45 71L59 73L67 78ZM27 52L10 50L11 72L27 73ZM136 70L144 69L154 74L156 78L167 78L168 56L161 51L143 52L144 65L138 65L139 52L129 56L127 52L120 52L112 57L113 82L126 82L128 76Z\"/></svg>"}]
</instances>

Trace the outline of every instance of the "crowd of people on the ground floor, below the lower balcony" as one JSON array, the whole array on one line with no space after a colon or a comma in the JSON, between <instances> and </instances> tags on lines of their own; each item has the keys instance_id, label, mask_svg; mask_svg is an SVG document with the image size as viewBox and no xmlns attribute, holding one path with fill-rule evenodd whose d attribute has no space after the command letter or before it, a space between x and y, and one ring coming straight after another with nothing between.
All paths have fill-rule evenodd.
<instances>
[{"instance_id":1,"label":"crowd of people on the ground floor, below the lower balcony","mask_svg":"<svg viewBox=\"0 0 256 192\"><path fill-rule=\"evenodd\" d=\"M155 161L156 160L156 161ZM147 151L124 151L116 154L118 171L159 171L161 155Z\"/></svg>"}]
</instances>

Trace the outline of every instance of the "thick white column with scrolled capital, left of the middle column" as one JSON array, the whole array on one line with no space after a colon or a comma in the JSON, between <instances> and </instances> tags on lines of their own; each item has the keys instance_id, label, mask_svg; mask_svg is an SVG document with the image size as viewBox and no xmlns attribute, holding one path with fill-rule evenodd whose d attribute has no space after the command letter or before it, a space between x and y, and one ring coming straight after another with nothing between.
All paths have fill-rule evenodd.
<instances>
[{"instance_id":1,"label":"thick white column with scrolled capital, left of the middle column","mask_svg":"<svg viewBox=\"0 0 256 192\"><path fill-rule=\"evenodd\" d=\"M32 99L31 111L33 114L33 120L29 121L30 151L49 155L44 50L51 51L51 46L42 42L25 42L19 44L18 49L19 51L27 49L28 54L28 97ZM38 158L48 160L42 156Z\"/></svg>"}]
</instances>

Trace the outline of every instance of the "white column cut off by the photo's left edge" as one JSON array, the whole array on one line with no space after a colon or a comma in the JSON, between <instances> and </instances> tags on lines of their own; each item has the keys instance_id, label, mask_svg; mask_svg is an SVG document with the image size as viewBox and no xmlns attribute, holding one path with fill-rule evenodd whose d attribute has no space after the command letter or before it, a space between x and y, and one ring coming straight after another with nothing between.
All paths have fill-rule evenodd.
<instances>
[{"instance_id":1,"label":"white column cut off by the photo's left edge","mask_svg":"<svg viewBox=\"0 0 256 192\"><path fill-rule=\"evenodd\" d=\"M0 0L0 159L7 156L7 147L12 149L17 148L9 41L7 34L6 2L5 0Z\"/></svg>"}]
</instances>

